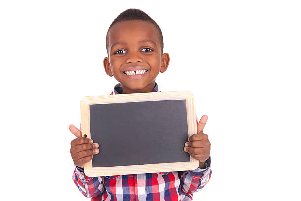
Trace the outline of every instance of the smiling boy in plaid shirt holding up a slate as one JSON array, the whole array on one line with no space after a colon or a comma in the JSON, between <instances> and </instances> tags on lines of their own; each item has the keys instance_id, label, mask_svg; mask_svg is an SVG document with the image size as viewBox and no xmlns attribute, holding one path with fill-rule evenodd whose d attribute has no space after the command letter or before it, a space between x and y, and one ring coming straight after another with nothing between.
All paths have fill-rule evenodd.
<instances>
[{"instance_id":1,"label":"smiling boy in plaid shirt holding up a slate","mask_svg":"<svg viewBox=\"0 0 301 201\"><path fill-rule=\"evenodd\" d=\"M163 54L162 33L151 17L137 9L122 12L108 29L106 48L105 71L120 82L112 95L159 91L155 79L159 72L166 71L169 55ZM70 149L75 165L73 180L92 201L191 201L192 193L200 191L211 176L210 142L203 133L206 121L207 116L202 116L197 122L197 134L183 144L184 151L200 161L197 169L104 177L84 174L82 167L99 153L100 147L92 139L81 137L81 131L70 125L77 137Z\"/></svg>"}]
</instances>

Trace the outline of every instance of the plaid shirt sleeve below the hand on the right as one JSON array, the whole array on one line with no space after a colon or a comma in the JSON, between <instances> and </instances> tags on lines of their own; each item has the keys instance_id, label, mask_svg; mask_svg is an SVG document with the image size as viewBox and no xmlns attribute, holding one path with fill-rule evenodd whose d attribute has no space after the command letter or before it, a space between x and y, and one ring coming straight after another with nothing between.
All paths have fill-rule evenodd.
<instances>
[{"instance_id":1,"label":"plaid shirt sleeve below the hand on the right","mask_svg":"<svg viewBox=\"0 0 301 201\"><path fill-rule=\"evenodd\" d=\"M181 191L184 194L192 194L195 192L199 192L208 183L212 173L210 157L206 160L205 164L207 166L207 168L205 169L196 168L195 170L191 171L189 170L179 172ZM192 197L192 195L190 196Z\"/></svg>"}]
</instances>

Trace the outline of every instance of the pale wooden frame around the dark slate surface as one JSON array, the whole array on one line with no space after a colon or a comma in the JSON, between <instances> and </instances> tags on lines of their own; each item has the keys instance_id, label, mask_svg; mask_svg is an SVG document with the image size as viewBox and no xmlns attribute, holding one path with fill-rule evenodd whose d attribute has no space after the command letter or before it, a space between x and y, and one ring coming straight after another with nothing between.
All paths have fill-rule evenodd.
<instances>
[{"instance_id":1,"label":"pale wooden frame around the dark slate surface","mask_svg":"<svg viewBox=\"0 0 301 201\"><path fill-rule=\"evenodd\" d=\"M194 96L191 91L171 91L156 93L134 93L134 94L116 94L105 96L86 96L81 100L81 124L82 136L87 135L91 138L90 133L90 113L89 105L92 104L109 104L123 102L143 102L156 100L186 100L187 108L187 124L188 137L197 133L196 114ZM184 145L183 145L184 146ZM89 177L95 176L112 176L125 174L142 174L154 172L183 171L194 170L198 168L199 161L190 156L190 162L177 163L160 163L160 164L144 164L131 166L115 166L115 167L92 167L92 160L84 166L84 172Z\"/></svg>"}]
</instances>

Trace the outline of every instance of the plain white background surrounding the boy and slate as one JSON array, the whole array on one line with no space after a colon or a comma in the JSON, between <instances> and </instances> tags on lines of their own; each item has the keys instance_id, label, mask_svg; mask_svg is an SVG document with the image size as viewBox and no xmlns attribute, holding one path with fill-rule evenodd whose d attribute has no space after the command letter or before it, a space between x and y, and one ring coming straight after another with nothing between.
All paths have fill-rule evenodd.
<instances>
[{"instance_id":1,"label":"plain white background surrounding the boy and slate","mask_svg":"<svg viewBox=\"0 0 301 201\"><path fill-rule=\"evenodd\" d=\"M212 176L194 200L300 200L297 0L1 1L0 197L90 200L72 181L68 126L79 127L81 98L117 83L105 35L128 8L162 29L160 90L192 90L208 115Z\"/></svg>"}]
</instances>

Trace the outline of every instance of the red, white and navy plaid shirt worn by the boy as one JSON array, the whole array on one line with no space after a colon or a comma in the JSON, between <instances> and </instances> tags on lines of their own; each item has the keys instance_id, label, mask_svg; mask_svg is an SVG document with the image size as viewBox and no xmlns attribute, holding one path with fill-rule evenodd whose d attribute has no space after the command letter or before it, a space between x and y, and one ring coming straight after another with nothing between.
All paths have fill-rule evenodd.
<instances>
[{"instance_id":1,"label":"red, white and navy plaid shirt worn by the boy","mask_svg":"<svg viewBox=\"0 0 301 201\"><path fill-rule=\"evenodd\" d=\"M158 92L158 85L152 92ZM117 84L111 94L121 94ZM81 128L80 128L81 130ZM80 167L75 167L73 181L91 201L191 201L211 177L211 158L206 169L192 171L158 172L116 176L88 177Z\"/></svg>"}]
</instances>

